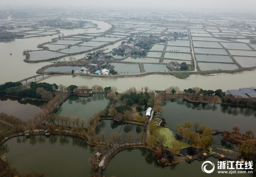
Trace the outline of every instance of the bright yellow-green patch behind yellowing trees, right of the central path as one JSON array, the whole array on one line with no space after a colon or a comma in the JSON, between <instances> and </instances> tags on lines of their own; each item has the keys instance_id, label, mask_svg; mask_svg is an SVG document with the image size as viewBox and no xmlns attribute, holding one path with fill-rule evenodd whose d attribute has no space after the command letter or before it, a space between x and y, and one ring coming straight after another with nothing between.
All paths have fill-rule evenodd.
<instances>
[{"instance_id":1,"label":"bright yellow-green patch behind yellowing trees, right of the central path","mask_svg":"<svg viewBox=\"0 0 256 177\"><path fill-rule=\"evenodd\" d=\"M168 148L173 148L172 147L172 141L173 140L176 140L175 139L175 135L173 134L173 132L168 129L168 128L158 128L157 131L159 131L160 134L163 134L166 136L167 140L163 143L163 145L165 147L168 147ZM180 142L181 143L181 149L184 149L184 148L188 148L190 147L191 145L186 143L186 142ZM178 152L178 151L177 151Z\"/></svg>"}]
</instances>

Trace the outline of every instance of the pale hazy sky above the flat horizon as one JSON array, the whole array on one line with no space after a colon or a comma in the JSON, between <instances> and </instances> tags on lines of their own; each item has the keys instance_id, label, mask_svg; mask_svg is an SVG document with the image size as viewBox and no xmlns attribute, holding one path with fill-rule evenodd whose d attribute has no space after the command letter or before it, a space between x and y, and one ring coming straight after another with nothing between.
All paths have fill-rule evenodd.
<instances>
[{"instance_id":1,"label":"pale hazy sky above the flat horizon","mask_svg":"<svg viewBox=\"0 0 256 177\"><path fill-rule=\"evenodd\" d=\"M0 8L10 6L47 6L80 8L136 8L171 10L255 11L256 0L0 0Z\"/></svg>"}]
</instances>

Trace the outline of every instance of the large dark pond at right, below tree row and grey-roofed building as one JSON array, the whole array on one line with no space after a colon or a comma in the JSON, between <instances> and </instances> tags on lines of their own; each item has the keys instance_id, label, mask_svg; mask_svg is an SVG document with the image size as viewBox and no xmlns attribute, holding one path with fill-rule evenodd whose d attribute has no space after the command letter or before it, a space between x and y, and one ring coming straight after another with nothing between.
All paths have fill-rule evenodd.
<instances>
[{"instance_id":1,"label":"large dark pond at right, below tree row and grey-roofed building","mask_svg":"<svg viewBox=\"0 0 256 177\"><path fill-rule=\"evenodd\" d=\"M222 131L232 131L234 125L240 127L241 133L248 129L256 131L253 126L256 123L256 109L252 107L190 102L181 98L162 100L162 104L165 108L163 117L173 130L180 123L198 121L201 125Z\"/></svg>"}]
</instances>

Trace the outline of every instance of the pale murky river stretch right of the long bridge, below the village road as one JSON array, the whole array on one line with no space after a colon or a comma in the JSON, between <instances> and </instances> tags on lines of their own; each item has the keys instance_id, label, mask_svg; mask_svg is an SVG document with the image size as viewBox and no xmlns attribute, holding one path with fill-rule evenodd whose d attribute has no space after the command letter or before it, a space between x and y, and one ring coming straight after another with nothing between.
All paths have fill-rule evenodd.
<instances>
[{"instance_id":1,"label":"pale murky river stretch right of the long bridge, below the village road","mask_svg":"<svg viewBox=\"0 0 256 177\"><path fill-rule=\"evenodd\" d=\"M129 72L130 73L130 72ZM178 79L170 75L148 75L137 78L103 78L91 76L50 76L39 80L39 82L56 83L57 85L87 85L89 87L97 84L104 87L116 86L118 92L123 92L130 87L135 86L136 89L149 86L152 90L165 90L170 86L178 86L180 90L189 89L192 87L200 87L204 90L222 89L227 91L230 89L239 89L244 87L256 86L255 80L256 71L244 71L239 74L218 73L211 76L191 75L186 79ZM243 82L236 82L236 81ZM33 80L31 80L33 81Z\"/></svg>"}]
</instances>

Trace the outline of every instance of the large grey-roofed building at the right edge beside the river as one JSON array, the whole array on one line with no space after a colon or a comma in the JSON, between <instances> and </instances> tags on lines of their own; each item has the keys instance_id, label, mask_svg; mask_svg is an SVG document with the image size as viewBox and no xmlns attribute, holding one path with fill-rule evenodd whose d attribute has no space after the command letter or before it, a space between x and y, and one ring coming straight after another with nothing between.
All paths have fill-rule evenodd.
<instances>
[{"instance_id":1,"label":"large grey-roofed building at the right edge beside the river","mask_svg":"<svg viewBox=\"0 0 256 177\"><path fill-rule=\"evenodd\" d=\"M256 89L254 87L241 88L239 90L225 91L226 95L232 95L235 98L256 98Z\"/></svg>"}]
</instances>

